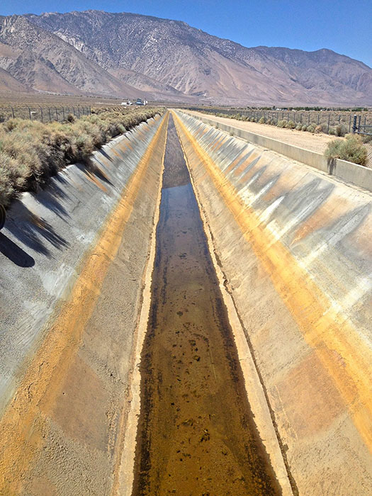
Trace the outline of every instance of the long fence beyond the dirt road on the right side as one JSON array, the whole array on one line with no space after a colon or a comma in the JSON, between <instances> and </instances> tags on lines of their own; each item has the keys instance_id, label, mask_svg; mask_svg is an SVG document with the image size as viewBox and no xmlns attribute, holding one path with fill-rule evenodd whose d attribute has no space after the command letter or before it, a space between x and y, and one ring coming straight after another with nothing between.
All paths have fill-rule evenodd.
<instances>
[{"instance_id":1,"label":"long fence beyond the dirt road on the right side","mask_svg":"<svg viewBox=\"0 0 372 496\"><path fill-rule=\"evenodd\" d=\"M320 126L322 133L342 134L351 133L353 130L354 113L352 112L336 112L336 111L281 111L281 110L244 110L242 108L202 108L189 107L191 111L203 113L212 113L220 115L240 115L241 117L249 118L256 122L264 120L270 121L276 125L278 121L292 121L295 126L301 124L304 126ZM372 124L372 113L359 115L359 124L366 126ZM338 128L339 127L339 128Z\"/></svg>"}]
</instances>

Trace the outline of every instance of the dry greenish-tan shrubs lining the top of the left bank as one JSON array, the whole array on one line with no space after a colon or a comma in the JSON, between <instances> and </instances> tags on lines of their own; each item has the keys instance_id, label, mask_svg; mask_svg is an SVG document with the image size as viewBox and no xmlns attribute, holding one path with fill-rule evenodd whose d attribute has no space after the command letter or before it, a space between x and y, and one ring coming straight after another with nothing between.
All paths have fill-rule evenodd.
<instances>
[{"instance_id":1,"label":"dry greenish-tan shrubs lining the top of the left bank","mask_svg":"<svg viewBox=\"0 0 372 496\"><path fill-rule=\"evenodd\" d=\"M0 203L9 205L21 191L38 191L63 167L87 163L112 137L162 113L162 108L99 109L63 123L11 119L0 125Z\"/></svg>"}]
</instances>

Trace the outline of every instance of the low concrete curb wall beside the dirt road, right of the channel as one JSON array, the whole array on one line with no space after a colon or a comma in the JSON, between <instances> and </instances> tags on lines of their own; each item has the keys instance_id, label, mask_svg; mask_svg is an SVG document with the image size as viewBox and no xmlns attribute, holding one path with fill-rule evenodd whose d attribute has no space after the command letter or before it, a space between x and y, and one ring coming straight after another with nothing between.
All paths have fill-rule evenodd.
<instances>
[{"instance_id":1,"label":"low concrete curb wall beside the dirt road, right of the channel","mask_svg":"<svg viewBox=\"0 0 372 496\"><path fill-rule=\"evenodd\" d=\"M326 172L346 183L354 184L360 188L372 191L372 169L340 159L334 159L329 162L324 155L320 153L288 145L288 143L274 140L271 137L250 133L249 131L235 128L233 125L220 123L213 118L201 117L195 114L189 115L192 115L194 118L201 120L208 125L215 126L217 124L220 130L226 131L227 133L234 133L235 136L247 140L254 145L268 148L269 150L285 155L297 162L302 162L303 164L310 165L310 167L315 167L315 169Z\"/></svg>"}]
</instances>

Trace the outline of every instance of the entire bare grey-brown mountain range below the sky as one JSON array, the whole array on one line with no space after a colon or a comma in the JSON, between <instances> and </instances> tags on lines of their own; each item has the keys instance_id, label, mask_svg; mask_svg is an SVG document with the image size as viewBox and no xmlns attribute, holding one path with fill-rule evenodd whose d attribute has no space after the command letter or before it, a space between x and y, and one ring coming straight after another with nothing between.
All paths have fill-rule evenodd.
<instances>
[{"instance_id":1,"label":"entire bare grey-brown mountain range below the sky","mask_svg":"<svg viewBox=\"0 0 372 496\"><path fill-rule=\"evenodd\" d=\"M85 11L0 17L0 91L189 103L372 104L372 69L332 50L247 48L181 21Z\"/></svg>"}]
</instances>

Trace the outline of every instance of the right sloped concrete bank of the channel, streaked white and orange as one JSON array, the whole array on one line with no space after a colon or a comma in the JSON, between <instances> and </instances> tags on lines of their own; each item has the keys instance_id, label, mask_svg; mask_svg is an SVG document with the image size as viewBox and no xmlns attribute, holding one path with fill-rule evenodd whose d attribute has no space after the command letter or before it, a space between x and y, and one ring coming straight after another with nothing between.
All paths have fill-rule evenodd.
<instances>
[{"instance_id":1,"label":"right sloped concrete bank of the channel, streaked white and orange","mask_svg":"<svg viewBox=\"0 0 372 496\"><path fill-rule=\"evenodd\" d=\"M372 487L372 198L176 113L300 495Z\"/></svg>"}]
</instances>

